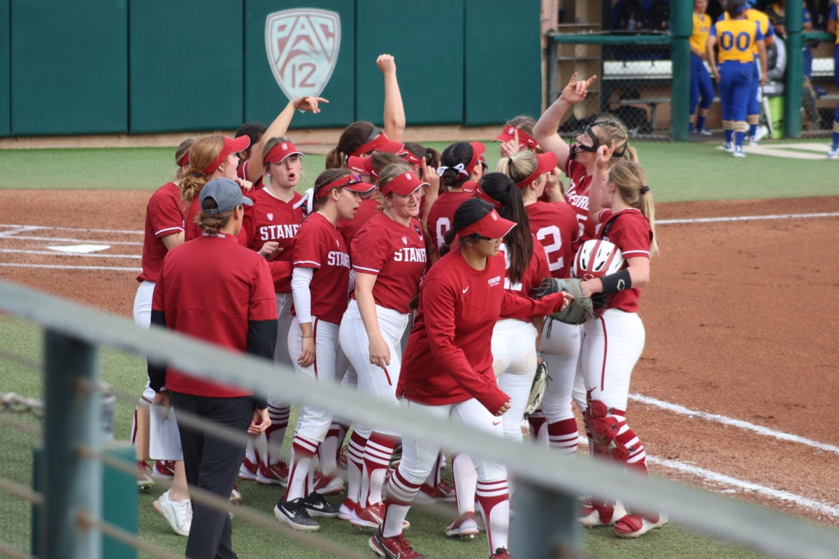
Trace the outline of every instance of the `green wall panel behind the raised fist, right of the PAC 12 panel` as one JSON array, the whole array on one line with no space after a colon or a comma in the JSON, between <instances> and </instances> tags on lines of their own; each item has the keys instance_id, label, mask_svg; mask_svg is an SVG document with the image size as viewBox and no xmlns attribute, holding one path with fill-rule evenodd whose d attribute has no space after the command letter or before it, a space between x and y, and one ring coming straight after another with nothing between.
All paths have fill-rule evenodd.
<instances>
[{"instance_id":1,"label":"green wall panel behind the raised fist, right of the PAC 12 panel","mask_svg":"<svg viewBox=\"0 0 839 559\"><path fill-rule=\"evenodd\" d=\"M409 127L460 124L463 0L425 0L410 4L409 9L405 3L390 0L357 0L357 7L357 120L382 124L384 87L376 57L388 53L396 59Z\"/></svg>"}]
</instances>

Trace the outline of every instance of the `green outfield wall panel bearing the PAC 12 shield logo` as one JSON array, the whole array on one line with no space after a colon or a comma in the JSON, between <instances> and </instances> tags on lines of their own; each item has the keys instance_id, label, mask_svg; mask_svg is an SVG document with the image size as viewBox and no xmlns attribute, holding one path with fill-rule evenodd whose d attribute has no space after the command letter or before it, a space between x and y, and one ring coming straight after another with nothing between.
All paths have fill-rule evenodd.
<instances>
[{"instance_id":1,"label":"green outfield wall panel bearing the PAC 12 shield logo","mask_svg":"<svg viewBox=\"0 0 839 559\"><path fill-rule=\"evenodd\" d=\"M307 13L294 12L302 6ZM329 13L313 17L311 10ZM272 16L268 25L272 60L281 61L277 64L281 70L277 71L289 96L274 78L268 60L268 16ZM312 0L296 5L277 0L245 0L245 122L268 125L290 97L315 94L324 84L320 96L328 99L329 104L321 105L317 115L296 113L290 128L344 127L355 120L355 16L355 7L347 0ZM340 41L336 43L338 34ZM312 52L316 53L314 58ZM323 73L312 71L315 60ZM330 76L326 69L331 63L334 65ZM290 136L294 140L293 132Z\"/></svg>"}]
</instances>

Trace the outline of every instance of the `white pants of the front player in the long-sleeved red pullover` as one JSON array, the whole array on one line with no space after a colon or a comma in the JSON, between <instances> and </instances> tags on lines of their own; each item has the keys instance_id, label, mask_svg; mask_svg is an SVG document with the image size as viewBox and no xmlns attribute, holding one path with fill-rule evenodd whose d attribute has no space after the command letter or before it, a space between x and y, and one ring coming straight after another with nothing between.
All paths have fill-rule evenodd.
<instances>
[{"instance_id":1,"label":"white pants of the front player in the long-sleeved red pullover","mask_svg":"<svg viewBox=\"0 0 839 559\"><path fill-rule=\"evenodd\" d=\"M405 404L410 409L422 410L436 417L448 417L455 422L471 425L497 437L504 435L501 418L493 416L474 398L444 406L425 406L414 401L406 401ZM423 484L435 467L439 452L440 444L435 441L417 440L414 437L404 439L399 474L411 484ZM501 463L476 456L472 456L472 463L475 465L478 481L507 479L507 468Z\"/></svg>"}]
</instances>

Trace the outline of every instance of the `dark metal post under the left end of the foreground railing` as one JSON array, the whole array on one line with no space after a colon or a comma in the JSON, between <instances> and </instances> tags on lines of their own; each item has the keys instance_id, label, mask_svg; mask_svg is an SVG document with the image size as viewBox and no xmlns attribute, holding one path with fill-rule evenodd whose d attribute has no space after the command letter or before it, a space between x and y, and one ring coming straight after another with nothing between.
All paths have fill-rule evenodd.
<instances>
[{"instance_id":1,"label":"dark metal post under the left end of the foreground railing","mask_svg":"<svg viewBox=\"0 0 839 559\"><path fill-rule=\"evenodd\" d=\"M46 559L96 559L100 531L82 528L76 514L102 517L102 463L80 453L98 451L102 411L96 347L55 330L44 333L44 508L40 549Z\"/></svg>"}]
</instances>

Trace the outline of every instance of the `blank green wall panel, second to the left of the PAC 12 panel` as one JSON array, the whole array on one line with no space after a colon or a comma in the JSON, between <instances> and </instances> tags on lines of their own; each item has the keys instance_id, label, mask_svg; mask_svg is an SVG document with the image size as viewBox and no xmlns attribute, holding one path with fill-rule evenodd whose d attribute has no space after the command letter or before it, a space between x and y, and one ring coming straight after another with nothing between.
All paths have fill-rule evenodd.
<instances>
[{"instance_id":1,"label":"blank green wall panel, second to the left of the PAC 12 panel","mask_svg":"<svg viewBox=\"0 0 839 559\"><path fill-rule=\"evenodd\" d=\"M11 133L128 130L128 0L11 0Z\"/></svg>"}]
</instances>

